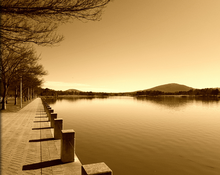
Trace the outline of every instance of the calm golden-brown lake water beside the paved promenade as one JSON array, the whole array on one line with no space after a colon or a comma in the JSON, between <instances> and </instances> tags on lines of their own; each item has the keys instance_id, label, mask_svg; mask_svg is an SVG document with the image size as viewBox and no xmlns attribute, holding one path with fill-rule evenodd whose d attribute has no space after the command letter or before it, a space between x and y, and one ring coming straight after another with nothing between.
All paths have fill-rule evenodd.
<instances>
[{"instance_id":1,"label":"calm golden-brown lake water beside the paved promenade","mask_svg":"<svg viewBox=\"0 0 220 175\"><path fill-rule=\"evenodd\" d=\"M48 101L76 132L82 164L114 175L219 175L220 101L166 98L60 98Z\"/></svg>"}]
</instances>

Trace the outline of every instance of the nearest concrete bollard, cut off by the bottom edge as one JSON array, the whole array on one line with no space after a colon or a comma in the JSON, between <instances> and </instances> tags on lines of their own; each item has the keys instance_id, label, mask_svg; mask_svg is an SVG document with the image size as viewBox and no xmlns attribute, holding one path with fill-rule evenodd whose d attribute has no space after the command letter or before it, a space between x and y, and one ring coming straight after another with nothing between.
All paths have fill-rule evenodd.
<instances>
[{"instance_id":1,"label":"nearest concrete bollard, cut off by the bottom edge","mask_svg":"<svg viewBox=\"0 0 220 175\"><path fill-rule=\"evenodd\" d=\"M82 175L113 175L112 170L104 163L82 165Z\"/></svg>"}]
</instances>

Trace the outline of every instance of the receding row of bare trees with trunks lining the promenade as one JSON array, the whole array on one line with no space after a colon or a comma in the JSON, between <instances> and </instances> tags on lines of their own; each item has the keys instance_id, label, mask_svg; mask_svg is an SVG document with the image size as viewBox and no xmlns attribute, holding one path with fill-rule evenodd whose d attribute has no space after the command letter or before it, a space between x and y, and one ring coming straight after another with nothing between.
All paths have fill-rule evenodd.
<instances>
[{"instance_id":1,"label":"receding row of bare trees with trunks lining the promenade","mask_svg":"<svg viewBox=\"0 0 220 175\"><path fill-rule=\"evenodd\" d=\"M42 76L47 72L43 66L38 64L39 56L36 56L34 49L30 47L17 48L14 51L8 50L4 45L1 48L1 95L2 109L6 109L6 101L9 90L15 93L15 104L18 96L18 89L22 83L23 94L33 91L33 88L42 84ZM27 97L28 98L28 97Z\"/></svg>"}]
</instances>

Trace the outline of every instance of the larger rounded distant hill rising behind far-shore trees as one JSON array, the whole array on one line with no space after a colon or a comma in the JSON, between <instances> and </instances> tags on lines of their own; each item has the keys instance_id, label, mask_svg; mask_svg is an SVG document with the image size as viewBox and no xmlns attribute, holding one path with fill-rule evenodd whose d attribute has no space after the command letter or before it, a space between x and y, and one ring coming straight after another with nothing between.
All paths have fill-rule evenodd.
<instances>
[{"instance_id":1,"label":"larger rounded distant hill rising behind far-shore trees","mask_svg":"<svg viewBox=\"0 0 220 175\"><path fill-rule=\"evenodd\" d=\"M178 91L189 91L190 89L193 89L192 87L177 84L177 83L170 83L170 84L164 84L160 86L156 86L150 89L145 89L144 91L162 91L162 92L178 92Z\"/></svg>"}]
</instances>

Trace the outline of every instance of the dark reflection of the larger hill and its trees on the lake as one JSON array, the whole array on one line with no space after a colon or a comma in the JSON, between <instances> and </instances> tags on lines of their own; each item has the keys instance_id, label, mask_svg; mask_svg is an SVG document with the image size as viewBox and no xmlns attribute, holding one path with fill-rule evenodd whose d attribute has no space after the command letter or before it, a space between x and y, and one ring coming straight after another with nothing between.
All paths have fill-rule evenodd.
<instances>
[{"instance_id":1,"label":"dark reflection of the larger hill and its trees on the lake","mask_svg":"<svg viewBox=\"0 0 220 175\"><path fill-rule=\"evenodd\" d=\"M202 97L202 96L139 96L134 97L138 101L151 102L157 105L162 105L167 108L181 108L189 105L193 102L202 102L204 104L218 104L219 99L217 97Z\"/></svg>"}]
</instances>

